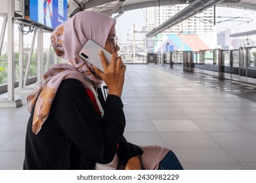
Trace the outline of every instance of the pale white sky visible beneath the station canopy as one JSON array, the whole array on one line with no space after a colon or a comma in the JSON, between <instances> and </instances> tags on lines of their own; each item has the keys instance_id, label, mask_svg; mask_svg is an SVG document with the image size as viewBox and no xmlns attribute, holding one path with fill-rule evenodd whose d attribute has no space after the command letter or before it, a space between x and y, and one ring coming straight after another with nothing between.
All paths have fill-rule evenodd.
<instances>
[{"instance_id":1,"label":"pale white sky visible beneath the station canopy","mask_svg":"<svg viewBox=\"0 0 256 183\"><path fill-rule=\"evenodd\" d=\"M221 22L234 17L238 22L224 21L222 23L216 24L217 31L224 31L230 28L232 33L239 33L242 31L251 31L253 27L256 27L256 11L249 11L244 9L237 9L232 7L216 7L216 16L226 16L229 18L216 18L216 22ZM248 20L252 22L242 22ZM0 17L0 28L2 25L3 18ZM146 24L145 10L140 8L137 10L129 10L123 13L122 16L117 18L116 32L119 42L127 41L127 33L129 33L129 39L133 39L133 24L135 24L135 30L141 31L142 27ZM17 25L15 25L17 27ZM255 29L255 28L254 28ZM0 29L1 30L1 29ZM24 36L24 41L32 42L33 33L29 33ZM49 48L49 34L45 36L44 47ZM136 33L136 39L143 39L144 33ZM253 38L256 37L252 36ZM18 28L15 29L14 39L18 39ZM255 38L256 39L256 38ZM7 40L7 31L5 34L5 40Z\"/></svg>"}]
</instances>

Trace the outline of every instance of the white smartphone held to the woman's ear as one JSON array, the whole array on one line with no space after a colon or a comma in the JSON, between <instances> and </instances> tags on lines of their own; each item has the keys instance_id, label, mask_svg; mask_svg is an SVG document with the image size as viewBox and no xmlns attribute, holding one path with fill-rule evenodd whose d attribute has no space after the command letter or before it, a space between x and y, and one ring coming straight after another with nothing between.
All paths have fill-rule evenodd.
<instances>
[{"instance_id":1,"label":"white smartphone held to the woman's ear","mask_svg":"<svg viewBox=\"0 0 256 183\"><path fill-rule=\"evenodd\" d=\"M88 61L89 63L91 63L91 65L95 65L98 69L100 69L100 71L103 72L104 69L103 69L103 65L101 63L100 55L99 55L100 50L102 50L102 52L104 53L106 61L110 63L112 54L110 54L110 52L102 48L102 46L100 46L99 44L97 44L95 41L91 39L89 39L85 43L85 45L79 52L79 56L85 59L86 61Z\"/></svg>"}]
</instances>

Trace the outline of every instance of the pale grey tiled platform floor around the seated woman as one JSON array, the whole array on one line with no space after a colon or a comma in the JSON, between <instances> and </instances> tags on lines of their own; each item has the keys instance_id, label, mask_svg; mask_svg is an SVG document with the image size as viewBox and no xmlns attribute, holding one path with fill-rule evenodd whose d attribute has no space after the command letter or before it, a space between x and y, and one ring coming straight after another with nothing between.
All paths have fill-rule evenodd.
<instances>
[{"instance_id":1,"label":"pale grey tiled platform floor around the seated woman","mask_svg":"<svg viewBox=\"0 0 256 183\"><path fill-rule=\"evenodd\" d=\"M16 91L24 105L0 108L0 169L22 169L28 93ZM177 65L127 65L125 137L171 148L184 169L255 170L255 93Z\"/></svg>"}]
</instances>

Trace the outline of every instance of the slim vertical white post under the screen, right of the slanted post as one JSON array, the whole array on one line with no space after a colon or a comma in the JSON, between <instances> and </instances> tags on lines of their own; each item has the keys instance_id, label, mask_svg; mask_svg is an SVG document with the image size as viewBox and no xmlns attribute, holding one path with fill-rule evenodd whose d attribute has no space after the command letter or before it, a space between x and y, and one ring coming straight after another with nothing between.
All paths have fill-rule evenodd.
<instances>
[{"instance_id":1,"label":"slim vertical white post under the screen, right of the slanted post","mask_svg":"<svg viewBox=\"0 0 256 183\"><path fill-rule=\"evenodd\" d=\"M43 76L43 33L42 29L37 29L37 82Z\"/></svg>"}]
</instances>

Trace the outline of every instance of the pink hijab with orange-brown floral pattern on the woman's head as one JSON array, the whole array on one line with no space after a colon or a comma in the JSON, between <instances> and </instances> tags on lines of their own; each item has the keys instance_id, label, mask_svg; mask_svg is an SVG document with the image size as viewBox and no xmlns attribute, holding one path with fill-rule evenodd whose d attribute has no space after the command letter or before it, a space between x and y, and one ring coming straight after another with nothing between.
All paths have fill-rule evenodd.
<instances>
[{"instance_id":1,"label":"pink hijab with orange-brown floral pattern on the woman's head","mask_svg":"<svg viewBox=\"0 0 256 183\"><path fill-rule=\"evenodd\" d=\"M82 11L54 29L51 35L53 49L59 57L68 59L68 63L58 63L50 67L44 73L41 82L28 95L28 110L31 112L33 105L35 105L32 124L33 133L37 135L43 123L47 120L53 99L62 80L67 78L79 80L98 99L95 88L100 87L102 80L91 73L93 71L91 64L80 58L78 53L89 39L104 48L113 25L116 25L116 20L105 14ZM35 103L38 94L39 97L37 103ZM103 115L104 111L98 100L97 103Z\"/></svg>"}]
</instances>

